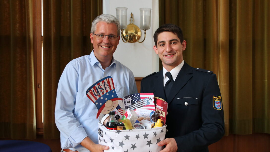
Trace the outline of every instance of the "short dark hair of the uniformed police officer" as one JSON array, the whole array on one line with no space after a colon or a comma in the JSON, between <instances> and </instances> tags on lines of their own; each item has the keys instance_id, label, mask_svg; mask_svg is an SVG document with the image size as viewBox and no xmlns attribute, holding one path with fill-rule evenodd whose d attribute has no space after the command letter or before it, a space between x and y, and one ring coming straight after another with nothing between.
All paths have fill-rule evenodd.
<instances>
[{"instance_id":1,"label":"short dark hair of the uniformed police officer","mask_svg":"<svg viewBox=\"0 0 270 152\"><path fill-rule=\"evenodd\" d=\"M157 37L162 32L172 32L176 34L178 38L180 39L181 44L184 41L183 32L180 27L174 24L164 24L164 25L161 25L154 34L154 42L155 42L156 47L157 47Z\"/></svg>"}]
</instances>

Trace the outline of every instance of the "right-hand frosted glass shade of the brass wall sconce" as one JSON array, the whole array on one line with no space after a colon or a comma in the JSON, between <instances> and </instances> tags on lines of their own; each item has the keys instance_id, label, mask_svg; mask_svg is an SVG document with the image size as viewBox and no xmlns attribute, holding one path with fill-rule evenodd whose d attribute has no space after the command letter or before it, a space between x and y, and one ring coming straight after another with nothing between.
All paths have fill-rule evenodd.
<instances>
[{"instance_id":1,"label":"right-hand frosted glass shade of the brass wall sconce","mask_svg":"<svg viewBox=\"0 0 270 152\"><path fill-rule=\"evenodd\" d=\"M148 30L150 28L151 8L140 8L140 28Z\"/></svg>"}]
</instances>

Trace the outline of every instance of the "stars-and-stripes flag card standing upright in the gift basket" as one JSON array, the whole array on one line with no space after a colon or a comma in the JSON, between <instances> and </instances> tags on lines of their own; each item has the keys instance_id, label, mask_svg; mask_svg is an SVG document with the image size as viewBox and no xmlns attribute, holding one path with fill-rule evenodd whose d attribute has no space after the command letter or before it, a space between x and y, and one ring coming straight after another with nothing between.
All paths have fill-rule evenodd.
<instances>
[{"instance_id":1,"label":"stars-and-stripes flag card standing upright in the gift basket","mask_svg":"<svg viewBox=\"0 0 270 152\"><path fill-rule=\"evenodd\" d=\"M141 100L148 99L148 102L150 104L144 105L143 107L140 107L139 109L147 109L147 110L155 110L155 103L154 103L154 93L136 93L136 94L130 94L124 97L124 104L125 109L130 108L130 106L140 102ZM134 109L136 111L136 109Z\"/></svg>"}]
</instances>

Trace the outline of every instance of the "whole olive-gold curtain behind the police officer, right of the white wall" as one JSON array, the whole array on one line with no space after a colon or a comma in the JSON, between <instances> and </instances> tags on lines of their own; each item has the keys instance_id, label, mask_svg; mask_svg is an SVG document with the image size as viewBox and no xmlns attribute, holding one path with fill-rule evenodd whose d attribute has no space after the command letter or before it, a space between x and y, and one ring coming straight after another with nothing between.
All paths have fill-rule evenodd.
<instances>
[{"instance_id":1,"label":"whole olive-gold curtain behind the police officer, right of the white wall","mask_svg":"<svg viewBox=\"0 0 270 152\"><path fill-rule=\"evenodd\" d=\"M226 135L270 133L269 8L265 0L159 0L159 24L183 30L184 61L217 74Z\"/></svg>"}]
</instances>

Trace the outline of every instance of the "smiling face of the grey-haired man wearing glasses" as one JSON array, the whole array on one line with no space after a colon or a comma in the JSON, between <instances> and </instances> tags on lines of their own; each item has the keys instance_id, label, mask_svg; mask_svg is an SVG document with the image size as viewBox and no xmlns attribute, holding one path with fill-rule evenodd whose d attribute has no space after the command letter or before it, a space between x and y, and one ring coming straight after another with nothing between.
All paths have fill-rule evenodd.
<instances>
[{"instance_id":1,"label":"smiling face of the grey-haired man wearing glasses","mask_svg":"<svg viewBox=\"0 0 270 152\"><path fill-rule=\"evenodd\" d=\"M115 24L100 21L96 25L95 34L104 34L104 35L117 35L117 27ZM101 59L112 59L113 53L119 44L120 37L117 37L116 41L110 41L106 36L104 40L98 40L96 35L93 33L90 34L91 42L94 47L94 54L98 60Z\"/></svg>"}]
</instances>

